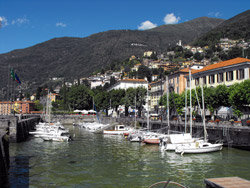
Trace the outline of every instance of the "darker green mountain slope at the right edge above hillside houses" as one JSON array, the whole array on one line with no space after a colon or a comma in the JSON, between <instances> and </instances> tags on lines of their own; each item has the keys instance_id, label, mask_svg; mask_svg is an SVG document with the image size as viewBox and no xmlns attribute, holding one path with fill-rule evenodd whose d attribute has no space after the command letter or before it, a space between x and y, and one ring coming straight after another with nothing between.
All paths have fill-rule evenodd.
<instances>
[{"instance_id":1,"label":"darker green mountain slope at the right edge above hillside houses","mask_svg":"<svg viewBox=\"0 0 250 188\"><path fill-rule=\"evenodd\" d=\"M250 39L250 10L247 10L241 14L238 14L229 20L224 21L218 27L207 32L201 36L194 43L197 46L207 45L214 43L220 38L229 39Z\"/></svg>"}]
</instances>

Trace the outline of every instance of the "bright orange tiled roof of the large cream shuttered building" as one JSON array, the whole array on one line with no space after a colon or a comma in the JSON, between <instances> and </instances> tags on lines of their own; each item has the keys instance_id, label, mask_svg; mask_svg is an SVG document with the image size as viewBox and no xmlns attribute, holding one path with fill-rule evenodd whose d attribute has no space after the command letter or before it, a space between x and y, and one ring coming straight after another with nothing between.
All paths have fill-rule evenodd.
<instances>
[{"instance_id":1,"label":"bright orange tiled roof of the large cream shuttered building","mask_svg":"<svg viewBox=\"0 0 250 188\"><path fill-rule=\"evenodd\" d=\"M250 62L250 59L238 57L238 58L235 58L235 59L222 61L222 62L219 62L219 63L216 63L216 64L208 65L208 66L204 67L203 69L196 70L195 72L192 72L192 74L199 73L199 72L204 72L204 71L208 71L208 70L213 70L213 69L218 69L218 68L222 68L222 67L227 67L227 66L230 66L230 65L236 65L236 64L244 63L244 62Z\"/></svg>"}]
</instances>

